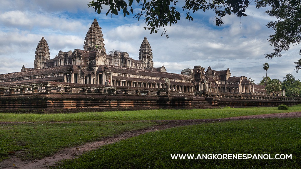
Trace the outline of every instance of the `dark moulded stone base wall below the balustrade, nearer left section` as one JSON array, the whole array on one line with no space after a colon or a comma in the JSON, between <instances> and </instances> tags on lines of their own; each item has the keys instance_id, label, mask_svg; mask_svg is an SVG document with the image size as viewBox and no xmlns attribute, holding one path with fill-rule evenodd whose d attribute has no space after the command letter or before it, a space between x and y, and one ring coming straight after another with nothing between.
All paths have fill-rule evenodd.
<instances>
[{"instance_id":1,"label":"dark moulded stone base wall below the balustrade, nearer left section","mask_svg":"<svg viewBox=\"0 0 301 169\"><path fill-rule=\"evenodd\" d=\"M191 97L107 94L24 94L0 97L4 112L79 112L141 109L191 109Z\"/></svg>"}]
</instances>

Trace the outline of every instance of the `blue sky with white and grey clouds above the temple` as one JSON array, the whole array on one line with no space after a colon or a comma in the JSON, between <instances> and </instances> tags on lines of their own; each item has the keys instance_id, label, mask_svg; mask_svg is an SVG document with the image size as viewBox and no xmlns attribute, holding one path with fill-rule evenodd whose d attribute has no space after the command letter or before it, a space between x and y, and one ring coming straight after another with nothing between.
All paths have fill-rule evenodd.
<instances>
[{"instance_id":1,"label":"blue sky with white and grey clouds above the temple","mask_svg":"<svg viewBox=\"0 0 301 169\"><path fill-rule=\"evenodd\" d=\"M274 20L264 14L265 9L247 8L248 17L225 17L224 25L217 27L212 12L199 11L194 21L182 20L167 27L169 38L144 30L143 20L133 16L98 15L88 8L90 0L1 0L0 6L0 74L19 72L23 65L33 68L35 50L45 37L54 58L60 50L83 49L83 42L94 18L104 34L107 51L126 51L138 60L140 44L147 37L152 51L154 67L163 64L168 72L180 73L185 68L200 65L206 69L230 69L232 76L247 76L258 83L270 65L268 76L282 81L286 74L301 79L294 70L300 46L292 46L281 58L265 59L272 47L267 39L273 31L265 25ZM182 6L180 0L178 7ZM134 9L134 12L139 9ZM105 13L105 12L104 12Z\"/></svg>"}]
</instances>

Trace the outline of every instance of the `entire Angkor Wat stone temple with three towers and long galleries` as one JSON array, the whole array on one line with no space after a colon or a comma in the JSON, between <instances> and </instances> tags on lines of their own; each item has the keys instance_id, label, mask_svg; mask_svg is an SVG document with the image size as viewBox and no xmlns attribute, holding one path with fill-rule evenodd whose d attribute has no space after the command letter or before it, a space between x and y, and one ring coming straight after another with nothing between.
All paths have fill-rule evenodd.
<instances>
[{"instance_id":1,"label":"entire Angkor Wat stone temple with three towers and long galleries","mask_svg":"<svg viewBox=\"0 0 301 169\"><path fill-rule=\"evenodd\" d=\"M60 51L50 59L47 41L42 37L36 48L34 68L23 66L21 72L0 75L0 107L16 109L27 105L33 109L34 105L42 105L42 109L51 107L52 110L89 107L99 110L118 107L119 104L123 108L206 108L227 104L235 106L231 99L244 100L236 106L252 106L247 104L248 99L275 100L275 97L266 99L269 97L264 86L252 84L247 77L231 77L229 69L217 71L208 67L205 72L203 67L194 66L193 69L184 69L181 74L174 74L168 73L164 66L155 68L151 45L146 37L141 43L139 60L129 57L127 52L106 52L104 46L101 27L96 19L86 34L83 50ZM147 95L147 99L142 95ZM22 106L20 98L24 99L24 96L32 98ZM41 96L49 99L43 100ZM92 103L93 99L87 101L87 97L98 101ZM219 101L227 98L228 102ZM121 104L118 100L126 102ZM150 103L151 100L156 101ZM256 102L253 106L278 105L281 101L275 104L266 102L266 105L263 102ZM107 106L97 106L98 103Z\"/></svg>"}]
</instances>

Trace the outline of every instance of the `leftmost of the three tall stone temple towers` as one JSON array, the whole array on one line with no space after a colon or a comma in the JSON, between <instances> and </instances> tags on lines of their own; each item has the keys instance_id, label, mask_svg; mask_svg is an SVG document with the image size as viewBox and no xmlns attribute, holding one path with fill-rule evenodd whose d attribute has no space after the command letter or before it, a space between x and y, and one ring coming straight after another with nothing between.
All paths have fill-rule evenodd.
<instances>
[{"instance_id":1,"label":"leftmost of the three tall stone temple towers","mask_svg":"<svg viewBox=\"0 0 301 169\"><path fill-rule=\"evenodd\" d=\"M41 38L37 48L33 66L35 69L45 68L46 60L50 59L49 47L44 37Z\"/></svg>"}]
</instances>

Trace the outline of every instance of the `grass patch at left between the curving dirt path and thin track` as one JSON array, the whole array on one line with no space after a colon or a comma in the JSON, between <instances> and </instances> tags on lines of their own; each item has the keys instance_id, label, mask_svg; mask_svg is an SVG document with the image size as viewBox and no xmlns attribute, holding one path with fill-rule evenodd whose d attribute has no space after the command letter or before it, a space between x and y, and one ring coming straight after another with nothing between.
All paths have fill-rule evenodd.
<instances>
[{"instance_id":1,"label":"grass patch at left between the curving dirt path and thin track","mask_svg":"<svg viewBox=\"0 0 301 169\"><path fill-rule=\"evenodd\" d=\"M20 158L33 160L53 155L64 147L100 140L146 128L151 122L34 122L0 124L0 161L9 151L22 151Z\"/></svg>"}]
</instances>

